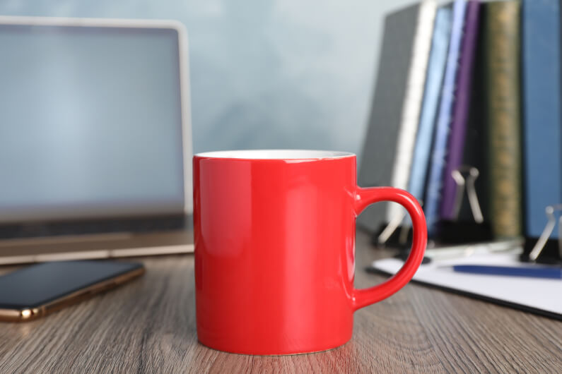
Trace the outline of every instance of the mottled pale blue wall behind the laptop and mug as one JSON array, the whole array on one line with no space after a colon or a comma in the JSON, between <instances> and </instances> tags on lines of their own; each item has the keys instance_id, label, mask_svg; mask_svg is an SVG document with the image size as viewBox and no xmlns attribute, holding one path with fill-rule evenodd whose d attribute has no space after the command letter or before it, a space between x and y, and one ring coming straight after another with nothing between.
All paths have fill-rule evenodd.
<instances>
[{"instance_id":1,"label":"mottled pale blue wall behind the laptop and mug","mask_svg":"<svg viewBox=\"0 0 562 374\"><path fill-rule=\"evenodd\" d=\"M411 0L2 0L6 16L172 18L189 32L194 152L360 152L382 20Z\"/></svg>"}]
</instances>

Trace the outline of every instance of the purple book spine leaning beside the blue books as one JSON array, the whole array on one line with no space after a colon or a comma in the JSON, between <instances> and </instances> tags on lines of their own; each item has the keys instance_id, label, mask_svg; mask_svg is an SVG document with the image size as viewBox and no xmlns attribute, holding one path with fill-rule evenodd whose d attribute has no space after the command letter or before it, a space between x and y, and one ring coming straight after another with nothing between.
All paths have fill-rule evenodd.
<instances>
[{"instance_id":1,"label":"purple book spine leaning beside the blue books","mask_svg":"<svg viewBox=\"0 0 562 374\"><path fill-rule=\"evenodd\" d=\"M472 67L476 51L476 37L478 36L479 1L469 1L467 4L467 18L464 23L464 40L462 42L457 73L457 91L452 111L451 133L449 138L447 163L443 175L443 198L441 200L440 217L442 219L456 219L455 196L457 183L451 173L462 164L464 153L464 137L467 133L468 111L470 104L470 86Z\"/></svg>"}]
</instances>

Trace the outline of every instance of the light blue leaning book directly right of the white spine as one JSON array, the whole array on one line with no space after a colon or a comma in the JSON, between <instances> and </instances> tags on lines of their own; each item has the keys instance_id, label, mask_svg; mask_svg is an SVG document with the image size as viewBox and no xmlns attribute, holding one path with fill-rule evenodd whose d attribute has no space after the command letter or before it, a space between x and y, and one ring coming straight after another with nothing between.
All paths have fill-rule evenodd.
<instances>
[{"instance_id":1,"label":"light blue leaning book directly right of the white spine","mask_svg":"<svg viewBox=\"0 0 562 374\"><path fill-rule=\"evenodd\" d=\"M451 35L452 7L440 6L435 14L431 53L429 55L426 88L423 92L423 104L414 147L408 191L418 200L423 200L426 187L431 145L435 130L435 120L439 107L447 49Z\"/></svg>"}]
</instances>

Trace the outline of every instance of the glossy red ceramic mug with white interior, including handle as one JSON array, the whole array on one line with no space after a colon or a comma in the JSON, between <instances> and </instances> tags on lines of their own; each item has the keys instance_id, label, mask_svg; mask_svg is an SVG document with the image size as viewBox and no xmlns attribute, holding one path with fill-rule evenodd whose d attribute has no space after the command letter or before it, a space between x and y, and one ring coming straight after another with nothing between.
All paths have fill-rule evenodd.
<instances>
[{"instance_id":1,"label":"glossy red ceramic mug with white interior, including handle","mask_svg":"<svg viewBox=\"0 0 562 374\"><path fill-rule=\"evenodd\" d=\"M247 150L195 155L194 240L199 342L237 354L302 354L351 339L353 312L409 282L426 249L416 199L357 186L347 152ZM365 207L404 205L414 243L401 270L353 288L355 221Z\"/></svg>"}]
</instances>

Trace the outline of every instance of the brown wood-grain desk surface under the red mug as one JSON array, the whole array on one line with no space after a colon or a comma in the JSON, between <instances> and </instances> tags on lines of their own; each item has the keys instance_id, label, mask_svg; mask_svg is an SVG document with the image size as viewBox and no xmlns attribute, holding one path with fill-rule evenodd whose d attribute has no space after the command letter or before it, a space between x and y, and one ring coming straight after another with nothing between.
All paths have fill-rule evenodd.
<instances>
[{"instance_id":1,"label":"brown wood-grain desk surface under the red mug","mask_svg":"<svg viewBox=\"0 0 562 374\"><path fill-rule=\"evenodd\" d=\"M359 287L384 279L363 271L383 255L358 234ZM192 255L142 261L146 275L120 289L45 319L0 323L0 371L562 373L562 322L415 284L359 310L353 339L332 351L213 351L197 343Z\"/></svg>"}]
</instances>

